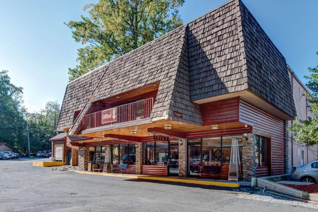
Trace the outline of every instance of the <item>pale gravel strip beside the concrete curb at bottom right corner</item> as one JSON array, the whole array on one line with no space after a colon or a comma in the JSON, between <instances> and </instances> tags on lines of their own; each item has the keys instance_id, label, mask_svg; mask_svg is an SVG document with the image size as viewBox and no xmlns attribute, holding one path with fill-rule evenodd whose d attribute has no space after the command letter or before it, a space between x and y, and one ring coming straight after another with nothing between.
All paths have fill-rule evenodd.
<instances>
[{"instance_id":1,"label":"pale gravel strip beside the concrete curb at bottom right corner","mask_svg":"<svg viewBox=\"0 0 318 212\"><path fill-rule=\"evenodd\" d=\"M298 205L298 206L318 209L318 205L315 205L315 204L311 204L311 203L308 203L308 202L301 202L301 201L289 199L289 198L286 198L286 197L273 195L273 194L270 194L268 192L265 192L265 194L263 194L262 191L255 192L254 194L239 194L236 197L237 198L241 198L241 199L257 200L257 201L263 201L263 202L281 203L281 204L288 204L288 205Z\"/></svg>"}]
</instances>

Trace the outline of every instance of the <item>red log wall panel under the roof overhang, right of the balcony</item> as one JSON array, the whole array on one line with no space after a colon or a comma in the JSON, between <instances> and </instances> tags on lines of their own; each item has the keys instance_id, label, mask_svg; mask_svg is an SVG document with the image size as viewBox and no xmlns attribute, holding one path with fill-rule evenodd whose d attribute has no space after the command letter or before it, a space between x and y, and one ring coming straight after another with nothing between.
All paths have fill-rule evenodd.
<instances>
[{"instance_id":1,"label":"red log wall panel under the roof overhang, right of the balcony","mask_svg":"<svg viewBox=\"0 0 318 212\"><path fill-rule=\"evenodd\" d=\"M239 121L239 97L222 99L200 105L202 125Z\"/></svg>"}]
</instances>

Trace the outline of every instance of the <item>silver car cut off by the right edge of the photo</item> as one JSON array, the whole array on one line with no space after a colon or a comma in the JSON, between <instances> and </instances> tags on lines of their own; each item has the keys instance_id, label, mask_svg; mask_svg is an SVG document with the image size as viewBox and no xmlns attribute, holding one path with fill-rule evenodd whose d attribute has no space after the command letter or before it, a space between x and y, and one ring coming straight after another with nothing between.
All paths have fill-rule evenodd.
<instances>
[{"instance_id":1,"label":"silver car cut off by the right edge of the photo","mask_svg":"<svg viewBox=\"0 0 318 212\"><path fill-rule=\"evenodd\" d=\"M311 161L299 167L292 167L290 179L300 182L318 182L318 160Z\"/></svg>"}]
</instances>

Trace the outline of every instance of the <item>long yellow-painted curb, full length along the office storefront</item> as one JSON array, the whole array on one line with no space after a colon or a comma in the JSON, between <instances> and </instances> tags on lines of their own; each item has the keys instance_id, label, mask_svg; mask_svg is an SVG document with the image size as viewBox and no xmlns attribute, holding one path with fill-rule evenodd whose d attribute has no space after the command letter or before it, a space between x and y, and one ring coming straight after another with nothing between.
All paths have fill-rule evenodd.
<instances>
[{"instance_id":1,"label":"long yellow-painted curb, full length along the office storefront","mask_svg":"<svg viewBox=\"0 0 318 212\"><path fill-rule=\"evenodd\" d=\"M113 174L113 173L101 173L101 172L86 172L86 171L74 171L80 174L96 174L104 176L113 176L113 177L126 177L126 178L138 178L144 180L158 180L158 181L170 181L170 182L183 182L183 183L192 183L200 185L212 185L212 186L223 186L223 187L239 187L239 183L231 182L215 182L215 181L202 181L202 180L186 180L180 178L169 178L169 177L157 177L157 176L138 176L138 175L128 175L128 174Z\"/></svg>"}]
</instances>

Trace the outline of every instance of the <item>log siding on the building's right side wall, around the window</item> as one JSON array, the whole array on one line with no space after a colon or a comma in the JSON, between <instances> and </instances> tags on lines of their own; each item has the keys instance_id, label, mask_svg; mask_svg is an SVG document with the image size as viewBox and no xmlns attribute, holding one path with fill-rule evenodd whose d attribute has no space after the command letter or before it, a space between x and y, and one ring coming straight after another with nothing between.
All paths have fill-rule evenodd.
<instances>
[{"instance_id":1,"label":"log siding on the building's right side wall, around the window","mask_svg":"<svg viewBox=\"0 0 318 212\"><path fill-rule=\"evenodd\" d=\"M274 175L285 174L285 124L272 113L240 99L240 122L253 126L253 133L271 138L271 167Z\"/></svg>"}]
</instances>

